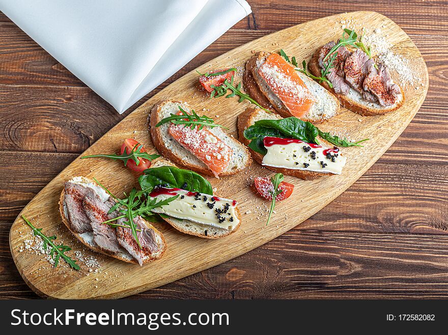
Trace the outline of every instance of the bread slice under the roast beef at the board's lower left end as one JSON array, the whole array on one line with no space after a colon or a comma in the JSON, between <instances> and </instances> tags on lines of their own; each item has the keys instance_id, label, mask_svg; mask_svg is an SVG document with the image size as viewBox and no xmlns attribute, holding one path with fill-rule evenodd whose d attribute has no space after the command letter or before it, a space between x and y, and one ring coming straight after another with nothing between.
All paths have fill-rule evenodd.
<instances>
[{"instance_id":1,"label":"bread slice under the roast beef at the board's lower left end","mask_svg":"<svg viewBox=\"0 0 448 335\"><path fill-rule=\"evenodd\" d=\"M80 178L81 178L82 183L95 185L98 188L100 188L100 186L96 185L96 183L94 181L92 181L91 179L86 178L86 177L80 177ZM97 189L94 189L94 190L96 191ZM126 251L126 249L124 249L123 247L121 248L122 250L117 254L111 253L107 250L103 250L103 249L99 248L96 245L96 243L93 241L93 231L87 231L86 233L82 233L82 234L79 234L79 233L76 233L76 231L73 231L71 228L71 225L70 225L69 218L68 218L67 209L65 208L65 205L64 205L64 199L65 199L65 188L62 190L61 197L59 199L59 213L61 214L61 218L62 218L62 221L64 222L64 224L67 226L67 228L70 230L70 232L81 243L85 244L88 248L90 248L96 252L100 252L107 256L114 257L120 261L138 264L138 262L131 256L131 254L128 251ZM156 259L159 259L166 250L166 243L165 243L165 239L163 238L162 233L160 233L160 231L157 230L151 223L149 223L146 220L144 220L144 221L145 221L146 225L148 226L148 228L151 228L154 230L155 236L157 238L157 244L161 247L161 249L157 253L153 253L153 254L145 257L145 259L143 260L143 263L145 264L145 263L154 261Z\"/></svg>"}]
</instances>

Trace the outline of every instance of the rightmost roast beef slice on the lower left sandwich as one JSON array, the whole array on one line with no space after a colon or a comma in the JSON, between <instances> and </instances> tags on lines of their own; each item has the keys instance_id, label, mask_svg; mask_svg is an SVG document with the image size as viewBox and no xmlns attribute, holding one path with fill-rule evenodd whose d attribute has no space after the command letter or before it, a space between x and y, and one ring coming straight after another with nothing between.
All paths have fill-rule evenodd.
<instances>
[{"instance_id":1,"label":"rightmost roast beef slice on the lower left sandwich","mask_svg":"<svg viewBox=\"0 0 448 335\"><path fill-rule=\"evenodd\" d=\"M119 219L120 224L125 225L126 219ZM130 228L117 227L117 238L120 245L125 248L139 265L143 265L143 262L156 252L160 247L156 240L156 233L154 229L149 228L142 217L135 217L134 223L136 224L138 241L142 245L140 248L132 236Z\"/></svg>"}]
</instances>

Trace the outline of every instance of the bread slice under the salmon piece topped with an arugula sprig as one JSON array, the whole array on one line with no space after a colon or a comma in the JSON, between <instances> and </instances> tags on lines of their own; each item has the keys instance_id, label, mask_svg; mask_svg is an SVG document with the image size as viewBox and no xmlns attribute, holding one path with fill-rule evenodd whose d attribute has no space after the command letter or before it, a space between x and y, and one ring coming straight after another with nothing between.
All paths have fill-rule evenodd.
<instances>
[{"instance_id":1,"label":"bread slice under the salmon piece topped with an arugula sprig","mask_svg":"<svg viewBox=\"0 0 448 335\"><path fill-rule=\"evenodd\" d=\"M170 134L168 134L168 123L162 124L159 127L155 126L165 117L168 117L171 114L177 114L179 112L179 106L181 106L187 113L191 110L185 102L175 100L160 101L152 108L150 116L150 129L155 147L159 150L163 157L170 159L178 165L181 165L189 170L214 176L213 172L201 160L185 149ZM229 147L231 147L233 151L229 165L219 174L220 176L238 173L252 163L250 153L246 147L233 137L227 135L221 127L213 127L210 131L216 137L225 142Z\"/></svg>"}]
</instances>

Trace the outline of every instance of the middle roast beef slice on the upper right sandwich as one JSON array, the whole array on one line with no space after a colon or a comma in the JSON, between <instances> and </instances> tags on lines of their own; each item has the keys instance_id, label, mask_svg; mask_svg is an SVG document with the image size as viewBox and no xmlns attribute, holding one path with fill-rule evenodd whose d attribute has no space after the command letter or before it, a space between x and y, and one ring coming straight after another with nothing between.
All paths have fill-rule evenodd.
<instances>
[{"instance_id":1,"label":"middle roast beef slice on the upper right sandwich","mask_svg":"<svg viewBox=\"0 0 448 335\"><path fill-rule=\"evenodd\" d=\"M373 60L362 50L357 49L353 54L347 57L344 64L345 80L357 92L362 93L362 83L369 73L369 65Z\"/></svg>"}]
</instances>

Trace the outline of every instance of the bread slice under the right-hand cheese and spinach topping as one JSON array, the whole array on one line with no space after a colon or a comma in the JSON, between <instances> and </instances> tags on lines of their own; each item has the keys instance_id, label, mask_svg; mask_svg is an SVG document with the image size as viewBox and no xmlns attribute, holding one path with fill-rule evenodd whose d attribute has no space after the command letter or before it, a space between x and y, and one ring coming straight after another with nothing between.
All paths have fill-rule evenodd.
<instances>
[{"instance_id":1,"label":"bread slice under the right-hand cheese and spinach topping","mask_svg":"<svg viewBox=\"0 0 448 335\"><path fill-rule=\"evenodd\" d=\"M260 108L253 108L248 107L246 110L238 115L238 136L241 141L241 143L245 145L249 145L250 140L247 140L244 137L244 130L251 125L253 125L256 121L259 120L279 120L282 119L282 117L278 114L274 113L267 113L266 111L260 109ZM263 161L263 155L259 152L255 152L254 150L250 150L250 153L252 154L252 157L259 163L262 164ZM305 181L311 181L312 179L315 179L317 177L321 176L328 176L331 175L331 173L324 173L324 172L314 172L314 171L304 171L304 170L295 170L295 169L285 169L285 168L276 168L271 167L267 165L263 165L268 170L277 172L277 173L283 173L284 175L290 175L293 177L297 177L300 179L303 179Z\"/></svg>"}]
</instances>

